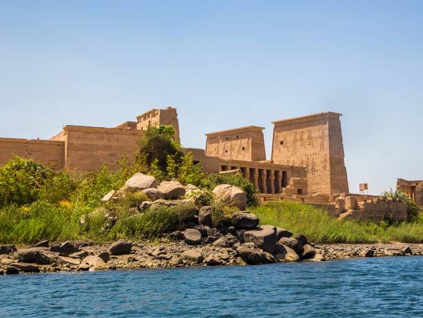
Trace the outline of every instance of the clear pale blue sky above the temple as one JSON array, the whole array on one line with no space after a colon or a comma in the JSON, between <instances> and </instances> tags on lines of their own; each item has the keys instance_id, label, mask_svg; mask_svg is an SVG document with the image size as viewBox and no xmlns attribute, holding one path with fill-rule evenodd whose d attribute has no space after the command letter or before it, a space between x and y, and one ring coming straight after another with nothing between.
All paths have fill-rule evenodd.
<instances>
[{"instance_id":1,"label":"clear pale blue sky above the temple","mask_svg":"<svg viewBox=\"0 0 423 318\"><path fill-rule=\"evenodd\" d=\"M0 136L176 106L205 133L336 111L350 191L423 179L423 1L0 1Z\"/></svg>"}]
</instances>

